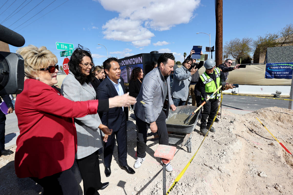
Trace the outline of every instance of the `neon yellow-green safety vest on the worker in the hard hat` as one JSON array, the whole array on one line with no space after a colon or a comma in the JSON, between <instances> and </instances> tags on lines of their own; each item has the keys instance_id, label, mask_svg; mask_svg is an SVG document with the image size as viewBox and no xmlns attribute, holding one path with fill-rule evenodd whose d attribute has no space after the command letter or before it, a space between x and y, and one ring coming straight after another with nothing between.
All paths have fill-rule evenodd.
<instances>
[{"instance_id":1,"label":"neon yellow-green safety vest on the worker in the hard hat","mask_svg":"<svg viewBox=\"0 0 293 195\"><path fill-rule=\"evenodd\" d=\"M214 68L214 71L216 73L217 86L216 86L216 83L214 82L214 80L211 77L209 77L207 75L207 73L204 72L202 75L200 75L200 79L205 84L205 92L207 94L207 97L212 95L217 90L217 87L220 86L220 69L219 68ZM219 99L219 97L221 97L220 90L217 91L217 94L213 95L210 99L214 99L214 98ZM204 98L202 97L202 100L203 99Z\"/></svg>"}]
</instances>

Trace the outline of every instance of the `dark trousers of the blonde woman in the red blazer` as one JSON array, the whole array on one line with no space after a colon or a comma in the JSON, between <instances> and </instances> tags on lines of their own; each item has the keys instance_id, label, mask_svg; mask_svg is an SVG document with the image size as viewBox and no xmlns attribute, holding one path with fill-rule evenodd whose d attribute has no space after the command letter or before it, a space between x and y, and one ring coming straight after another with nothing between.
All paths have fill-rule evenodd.
<instances>
[{"instance_id":1,"label":"dark trousers of the blonde woman in the red blazer","mask_svg":"<svg viewBox=\"0 0 293 195\"><path fill-rule=\"evenodd\" d=\"M39 179L30 177L44 188L44 195L77 195L78 184L70 169Z\"/></svg>"}]
</instances>

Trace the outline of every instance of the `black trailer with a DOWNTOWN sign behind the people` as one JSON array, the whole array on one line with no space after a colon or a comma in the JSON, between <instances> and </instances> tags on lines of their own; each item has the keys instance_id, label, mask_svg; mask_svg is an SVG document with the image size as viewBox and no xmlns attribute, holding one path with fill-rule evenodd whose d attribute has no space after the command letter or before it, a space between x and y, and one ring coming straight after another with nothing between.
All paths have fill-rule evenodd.
<instances>
[{"instance_id":1,"label":"black trailer with a DOWNTOWN sign behind the people","mask_svg":"<svg viewBox=\"0 0 293 195\"><path fill-rule=\"evenodd\" d=\"M152 51L151 53L146 54L137 54L134 56L129 56L125 58L118 59L120 69L121 69L121 77L124 80L125 88L128 90L128 85L130 81L130 75L132 70L135 67L142 68L142 71L144 72L144 75L149 73L151 71L151 63L154 61L158 61L159 57L162 55L162 53L158 53L157 51ZM177 66L174 66L174 71L177 68ZM173 72L172 72L173 75ZM173 80L173 76L171 77Z\"/></svg>"}]
</instances>

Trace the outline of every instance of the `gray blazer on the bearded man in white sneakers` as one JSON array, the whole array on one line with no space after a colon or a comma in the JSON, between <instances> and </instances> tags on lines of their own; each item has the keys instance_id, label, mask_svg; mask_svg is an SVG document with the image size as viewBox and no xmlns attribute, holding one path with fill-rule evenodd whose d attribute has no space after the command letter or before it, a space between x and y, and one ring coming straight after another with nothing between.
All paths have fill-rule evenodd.
<instances>
[{"instance_id":1,"label":"gray blazer on the bearded man in white sneakers","mask_svg":"<svg viewBox=\"0 0 293 195\"><path fill-rule=\"evenodd\" d=\"M148 123L156 121L163 109L164 88L160 74L160 69L154 68L144 77L137 103L134 105L135 115ZM166 115L168 116L170 105L174 104L171 98L170 77L167 78L167 86L169 98Z\"/></svg>"}]
</instances>

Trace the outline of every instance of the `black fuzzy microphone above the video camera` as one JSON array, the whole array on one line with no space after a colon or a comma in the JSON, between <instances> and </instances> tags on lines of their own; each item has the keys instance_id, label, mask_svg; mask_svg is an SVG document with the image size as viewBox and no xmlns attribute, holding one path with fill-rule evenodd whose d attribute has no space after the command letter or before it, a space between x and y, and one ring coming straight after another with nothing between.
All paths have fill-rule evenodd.
<instances>
[{"instance_id":1,"label":"black fuzzy microphone above the video camera","mask_svg":"<svg viewBox=\"0 0 293 195\"><path fill-rule=\"evenodd\" d=\"M10 30L9 28L6 28L5 26L2 26L1 24L0 35L0 41L13 45L15 47L21 47L25 43L23 36L14 32L13 30Z\"/></svg>"}]
</instances>

